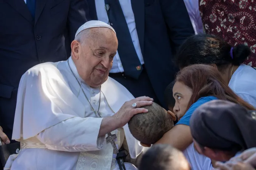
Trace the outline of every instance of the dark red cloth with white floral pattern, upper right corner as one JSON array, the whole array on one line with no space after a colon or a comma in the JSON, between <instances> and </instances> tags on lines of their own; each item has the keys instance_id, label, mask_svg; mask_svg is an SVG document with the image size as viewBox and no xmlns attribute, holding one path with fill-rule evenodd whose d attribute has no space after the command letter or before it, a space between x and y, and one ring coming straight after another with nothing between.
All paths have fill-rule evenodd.
<instances>
[{"instance_id":1,"label":"dark red cloth with white floral pattern, upper right corner","mask_svg":"<svg viewBox=\"0 0 256 170\"><path fill-rule=\"evenodd\" d=\"M245 64L256 67L256 0L199 0L199 11L206 33L249 46Z\"/></svg>"}]
</instances>

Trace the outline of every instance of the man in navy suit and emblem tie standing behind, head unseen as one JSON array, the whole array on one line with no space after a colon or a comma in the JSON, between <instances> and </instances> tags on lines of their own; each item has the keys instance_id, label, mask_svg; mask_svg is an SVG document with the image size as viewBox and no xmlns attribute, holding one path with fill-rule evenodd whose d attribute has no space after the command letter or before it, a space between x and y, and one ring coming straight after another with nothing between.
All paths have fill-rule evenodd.
<instances>
[{"instance_id":1,"label":"man in navy suit and emblem tie standing behind, head unseen","mask_svg":"<svg viewBox=\"0 0 256 170\"><path fill-rule=\"evenodd\" d=\"M194 29L179 0L87 0L90 19L117 32L118 52L109 76L134 97L149 96L166 109L163 93L178 71L172 59Z\"/></svg>"}]
</instances>

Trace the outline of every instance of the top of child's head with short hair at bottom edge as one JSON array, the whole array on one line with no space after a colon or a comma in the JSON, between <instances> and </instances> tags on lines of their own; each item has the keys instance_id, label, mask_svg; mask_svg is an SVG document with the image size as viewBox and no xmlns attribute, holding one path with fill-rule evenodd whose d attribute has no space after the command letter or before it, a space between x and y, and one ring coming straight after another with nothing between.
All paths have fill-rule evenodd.
<instances>
[{"instance_id":1,"label":"top of child's head with short hair at bottom edge","mask_svg":"<svg viewBox=\"0 0 256 170\"><path fill-rule=\"evenodd\" d=\"M142 156L139 170L190 170L190 166L181 151L155 144Z\"/></svg>"}]
</instances>

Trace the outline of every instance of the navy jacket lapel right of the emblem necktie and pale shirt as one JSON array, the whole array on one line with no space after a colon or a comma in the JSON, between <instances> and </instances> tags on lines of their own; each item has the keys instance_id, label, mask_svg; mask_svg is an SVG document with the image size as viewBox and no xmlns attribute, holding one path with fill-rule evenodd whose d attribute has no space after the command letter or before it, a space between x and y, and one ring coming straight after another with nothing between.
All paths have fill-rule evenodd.
<instances>
[{"instance_id":1,"label":"navy jacket lapel right of the emblem necktie and pale shirt","mask_svg":"<svg viewBox=\"0 0 256 170\"><path fill-rule=\"evenodd\" d=\"M135 18L136 30L139 37L139 45L141 46L141 52L144 52L144 28L145 28L145 12L144 12L144 0L131 0L131 7L133 8L133 14Z\"/></svg>"}]
</instances>

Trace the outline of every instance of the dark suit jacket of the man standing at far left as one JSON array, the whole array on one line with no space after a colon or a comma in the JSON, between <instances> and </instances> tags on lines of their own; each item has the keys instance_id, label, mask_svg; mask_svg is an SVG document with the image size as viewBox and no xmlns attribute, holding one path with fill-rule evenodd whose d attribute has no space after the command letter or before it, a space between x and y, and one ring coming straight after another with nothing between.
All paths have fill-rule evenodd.
<instances>
[{"instance_id":1,"label":"dark suit jacket of the man standing at far left","mask_svg":"<svg viewBox=\"0 0 256 170\"><path fill-rule=\"evenodd\" d=\"M86 10L86 0L36 0L33 19L24 0L0 0L0 125L9 139L22 74L39 63L67 60Z\"/></svg>"}]
</instances>

